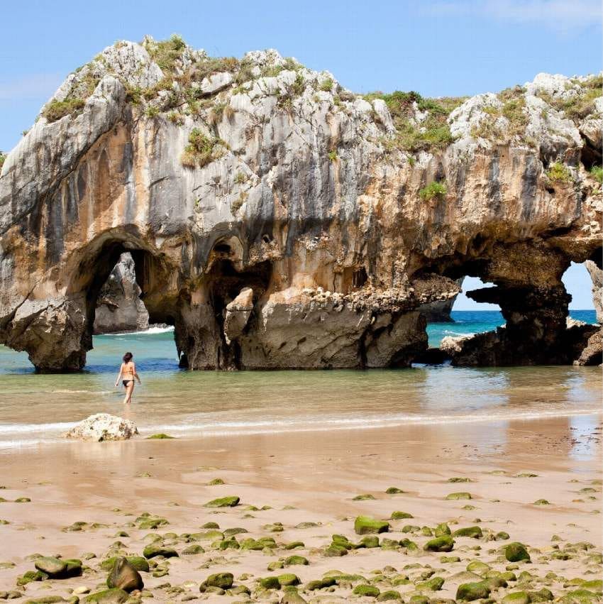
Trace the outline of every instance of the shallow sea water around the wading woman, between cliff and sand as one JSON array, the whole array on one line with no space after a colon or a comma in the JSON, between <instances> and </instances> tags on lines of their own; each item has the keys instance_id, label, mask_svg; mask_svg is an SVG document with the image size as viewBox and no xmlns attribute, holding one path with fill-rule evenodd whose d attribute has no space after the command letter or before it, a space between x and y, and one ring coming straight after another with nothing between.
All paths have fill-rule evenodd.
<instances>
[{"instance_id":1,"label":"shallow sea water around the wading woman, between cliff and sand","mask_svg":"<svg viewBox=\"0 0 603 604\"><path fill-rule=\"evenodd\" d=\"M126 350L143 379L128 410L123 389L114 388ZM84 373L38 375L26 355L0 348L0 449L55 441L96 412L129 417L143 433L175 436L586 418L600 412L602 376L590 367L194 372L177 368L170 331L96 336L88 359Z\"/></svg>"}]
</instances>

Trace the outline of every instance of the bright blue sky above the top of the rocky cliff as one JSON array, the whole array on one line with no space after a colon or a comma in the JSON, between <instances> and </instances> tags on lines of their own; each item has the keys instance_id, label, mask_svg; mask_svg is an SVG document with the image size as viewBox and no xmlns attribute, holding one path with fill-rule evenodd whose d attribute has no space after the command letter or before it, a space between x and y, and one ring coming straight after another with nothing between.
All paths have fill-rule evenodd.
<instances>
[{"instance_id":1,"label":"bright blue sky above the top of the rocky cliff","mask_svg":"<svg viewBox=\"0 0 603 604\"><path fill-rule=\"evenodd\" d=\"M211 55L277 48L355 92L458 96L523 84L541 71L601 69L599 0L8 2L0 16L0 149L13 148L75 67L145 33L179 33Z\"/></svg>"}]
</instances>

